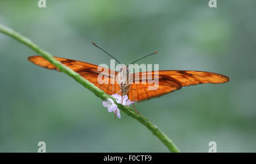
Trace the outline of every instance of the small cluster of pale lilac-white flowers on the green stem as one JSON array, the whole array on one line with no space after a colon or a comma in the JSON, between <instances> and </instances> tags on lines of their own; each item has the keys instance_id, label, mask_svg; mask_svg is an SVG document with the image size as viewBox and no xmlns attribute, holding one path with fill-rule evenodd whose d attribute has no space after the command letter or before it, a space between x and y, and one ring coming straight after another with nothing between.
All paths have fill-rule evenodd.
<instances>
[{"instance_id":1,"label":"small cluster of pale lilac-white flowers on the green stem","mask_svg":"<svg viewBox=\"0 0 256 164\"><path fill-rule=\"evenodd\" d=\"M113 94L112 96L115 98L115 101L118 104L121 104L121 102L122 102L122 105L124 105L124 106L130 106L131 104L134 103L128 99L127 95L122 97L121 95ZM108 107L108 111L114 112L118 116L119 119L121 118L120 110L117 108L117 105L114 103L114 101L112 99L107 99L106 101L103 101L102 105L104 107Z\"/></svg>"}]
</instances>

